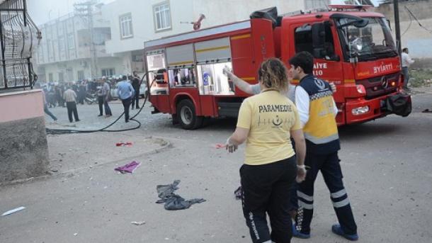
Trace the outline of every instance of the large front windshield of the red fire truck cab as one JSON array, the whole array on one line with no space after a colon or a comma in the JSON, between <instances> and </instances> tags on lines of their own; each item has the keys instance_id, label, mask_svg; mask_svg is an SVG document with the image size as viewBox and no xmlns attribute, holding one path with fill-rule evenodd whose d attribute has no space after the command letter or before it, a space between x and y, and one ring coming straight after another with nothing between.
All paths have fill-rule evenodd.
<instances>
[{"instance_id":1,"label":"large front windshield of the red fire truck cab","mask_svg":"<svg viewBox=\"0 0 432 243\"><path fill-rule=\"evenodd\" d=\"M352 19L339 18L338 20L341 26L339 36L345 46L346 57L358 57L360 62L396 57L397 50L385 18L363 19L367 20L368 24L360 28L356 27Z\"/></svg>"}]
</instances>

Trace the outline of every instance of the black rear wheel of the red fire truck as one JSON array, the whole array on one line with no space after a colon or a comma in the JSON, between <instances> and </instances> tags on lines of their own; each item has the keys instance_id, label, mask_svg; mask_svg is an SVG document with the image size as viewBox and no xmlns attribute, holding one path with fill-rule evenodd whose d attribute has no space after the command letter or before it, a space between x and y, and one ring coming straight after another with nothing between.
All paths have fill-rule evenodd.
<instances>
[{"instance_id":1,"label":"black rear wheel of the red fire truck","mask_svg":"<svg viewBox=\"0 0 432 243\"><path fill-rule=\"evenodd\" d=\"M196 115L195 106L188 99L178 103L177 118L181 127L186 130L199 128L203 124L203 117Z\"/></svg>"}]
</instances>

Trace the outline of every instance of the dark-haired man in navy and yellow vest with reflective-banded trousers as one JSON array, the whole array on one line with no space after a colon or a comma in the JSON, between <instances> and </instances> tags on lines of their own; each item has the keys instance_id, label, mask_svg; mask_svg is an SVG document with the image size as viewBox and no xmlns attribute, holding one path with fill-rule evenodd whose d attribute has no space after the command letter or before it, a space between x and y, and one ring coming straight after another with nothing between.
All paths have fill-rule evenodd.
<instances>
[{"instance_id":1,"label":"dark-haired man in navy and yellow vest with reflective-banded trousers","mask_svg":"<svg viewBox=\"0 0 432 243\"><path fill-rule=\"evenodd\" d=\"M293 235L303 239L310 237L310 224L314 213L314 182L321 171L339 220L339 224L333 225L331 231L346 239L357 240L357 225L343 186L339 164L338 151L341 146L336 125L338 108L331 87L328 82L312 74L314 58L309 52L298 52L289 62L292 77L300 80L295 89L295 105L305 132L305 165L308 167L305 181L298 184L299 209Z\"/></svg>"}]
</instances>

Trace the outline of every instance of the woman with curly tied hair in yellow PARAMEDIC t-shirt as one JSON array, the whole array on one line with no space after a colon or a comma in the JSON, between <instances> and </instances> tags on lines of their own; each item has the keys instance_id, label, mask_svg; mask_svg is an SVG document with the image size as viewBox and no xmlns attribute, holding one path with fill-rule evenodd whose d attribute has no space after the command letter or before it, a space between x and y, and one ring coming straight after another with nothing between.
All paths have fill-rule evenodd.
<instances>
[{"instance_id":1,"label":"woman with curly tied hair in yellow PARAMEDIC t-shirt","mask_svg":"<svg viewBox=\"0 0 432 243\"><path fill-rule=\"evenodd\" d=\"M246 141L240 176L243 213L252 242L285 243L292 237L290 188L296 176L299 182L306 176L305 138L297 108L285 96L288 77L283 62L275 58L264 61L258 78L261 94L241 104L237 128L227 140L227 149L234 152ZM297 159L290 136L295 140Z\"/></svg>"}]
</instances>

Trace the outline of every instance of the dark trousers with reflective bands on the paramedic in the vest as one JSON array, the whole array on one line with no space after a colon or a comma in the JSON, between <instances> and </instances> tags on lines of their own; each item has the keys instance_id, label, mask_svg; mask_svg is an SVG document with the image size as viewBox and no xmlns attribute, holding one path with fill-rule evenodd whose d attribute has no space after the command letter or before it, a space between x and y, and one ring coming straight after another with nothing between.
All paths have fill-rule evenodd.
<instances>
[{"instance_id":1,"label":"dark trousers with reflective bands on the paramedic in the vest","mask_svg":"<svg viewBox=\"0 0 432 243\"><path fill-rule=\"evenodd\" d=\"M342 182L342 170L339 164L338 152L331 154L306 153L307 166L306 179L298 183L297 197L299 209L297 210L296 230L309 234L310 223L314 213L314 182L321 171L327 188L329 188L331 202L338 217L339 224L346 234L356 234L357 225L354 220L351 205Z\"/></svg>"}]
</instances>

